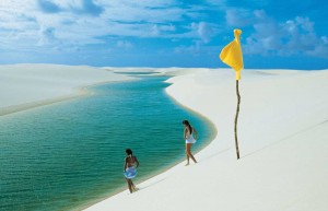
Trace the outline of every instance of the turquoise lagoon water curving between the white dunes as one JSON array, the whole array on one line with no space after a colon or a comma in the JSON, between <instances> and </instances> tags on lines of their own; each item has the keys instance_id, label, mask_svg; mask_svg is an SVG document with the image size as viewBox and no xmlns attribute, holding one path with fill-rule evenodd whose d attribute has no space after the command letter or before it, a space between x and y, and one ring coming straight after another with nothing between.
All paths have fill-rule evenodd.
<instances>
[{"instance_id":1,"label":"turquoise lagoon water curving between the white dunes","mask_svg":"<svg viewBox=\"0 0 328 211\"><path fill-rule=\"evenodd\" d=\"M213 126L165 94L167 78L134 77L0 117L0 210L80 210L127 189L126 148L145 180L185 159L183 119L200 133L194 152L210 142Z\"/></svg>"}]
</instances>

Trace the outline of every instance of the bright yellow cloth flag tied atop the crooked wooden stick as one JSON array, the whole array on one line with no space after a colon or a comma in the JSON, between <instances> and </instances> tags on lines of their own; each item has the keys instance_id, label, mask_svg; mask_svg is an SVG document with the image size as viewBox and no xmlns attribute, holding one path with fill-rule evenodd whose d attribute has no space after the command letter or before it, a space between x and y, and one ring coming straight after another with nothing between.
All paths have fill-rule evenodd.
<instances>
[{"instance_id":1,"label":"bright yellow cloth flag tied atop the crooked wooden stick","mask_svg":"<svg viewBox=\"0 0 328 211\"><path fill-rule=\"evenodd\" d=\"M236 71L236 80L241 79L241 71L244 68L243 52L239 36L241 30L234 30L235 39L227 44L220 54L220 59Z\"/></svg>"}]
</instances>

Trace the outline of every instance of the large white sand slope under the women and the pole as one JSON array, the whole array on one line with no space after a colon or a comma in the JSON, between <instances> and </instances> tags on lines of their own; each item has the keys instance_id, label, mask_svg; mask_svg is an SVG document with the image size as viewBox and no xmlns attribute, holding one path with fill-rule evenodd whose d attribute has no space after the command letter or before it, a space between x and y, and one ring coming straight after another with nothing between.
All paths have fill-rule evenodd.
<instances>
[{"instance_id":1,"label":"large white sand slope under the women and the pole","mask_svg":"<svg viewBox=\"0 0 328 211\"><path fill-rule=\"evenodd\" d=\"M198 164L181 163L89 211L328 210L327 70L243 71L238 161L234 72L161 71L177 75L167 93L209 118L216 138Z\"/></svg>"}]
</instances>

